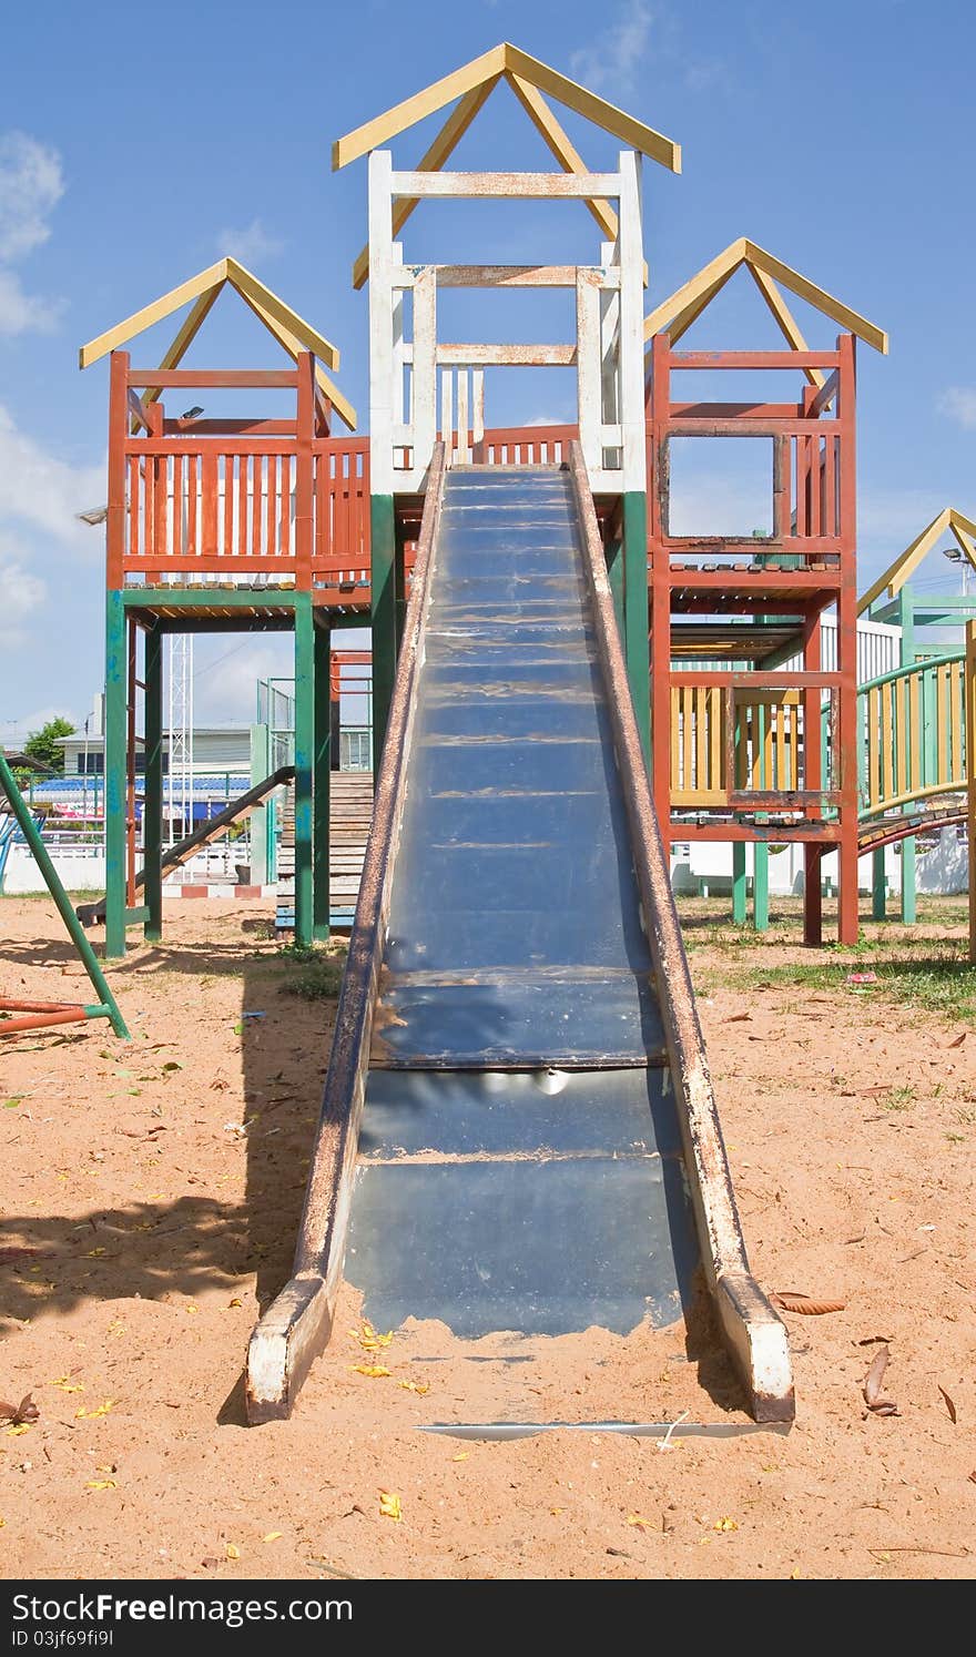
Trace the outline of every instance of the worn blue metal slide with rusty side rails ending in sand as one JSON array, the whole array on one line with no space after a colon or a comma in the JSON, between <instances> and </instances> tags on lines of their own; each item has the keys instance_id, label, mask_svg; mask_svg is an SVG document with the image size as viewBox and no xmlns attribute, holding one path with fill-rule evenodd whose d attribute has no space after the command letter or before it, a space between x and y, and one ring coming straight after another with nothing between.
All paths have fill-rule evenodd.
<instances>
[{"instance_id":1,"label":"worn blue metal slide with rusty side rails ending in sand","mask_svg":"<svg viewBox=\"0 0 976 1657\"><path fill-rule=\"evenodd\" d=\"M582 456L441 467L295 1276L252 1337L250 1418L288 1413L345 1264L378 1327L413 1316L471 1339L673 1324L704 1284L756 1417L789 1420Z\"/></svg>"}]
</instances>

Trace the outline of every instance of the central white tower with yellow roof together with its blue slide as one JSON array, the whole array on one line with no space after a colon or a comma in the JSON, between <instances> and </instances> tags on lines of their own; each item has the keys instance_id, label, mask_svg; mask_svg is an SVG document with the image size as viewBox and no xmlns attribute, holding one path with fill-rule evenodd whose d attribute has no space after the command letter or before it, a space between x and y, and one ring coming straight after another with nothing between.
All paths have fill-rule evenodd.
<instances>
[{"instance_id":1,"label":"central white tower with yellow roof together with its blue slide","mask_svg":"<svg viewBox=\"0 0 976 1657\"><path fill-rule=\"evenodd\" d=\"M338 164L370 152L381 761L293 1276L252 1336L249 1415L290 1412L350 1244L366 1316L466 1336L669 1322L689 1311L689 1249L754 1413L784 1420L785 1332L746 1261L646 769L640 161L404 172L376 147L484 73L336 146ZM535 80L553 89L545 66ZM676 159L636 123L626 139ZM577 197L613 232L592 265L406 263L404 204L444 197ZM575 292L575 340L441 340L442 287L507 283ZM575 428L492 431L481 371L552 361L577 371Z\"/></svg>"}]
</instances>

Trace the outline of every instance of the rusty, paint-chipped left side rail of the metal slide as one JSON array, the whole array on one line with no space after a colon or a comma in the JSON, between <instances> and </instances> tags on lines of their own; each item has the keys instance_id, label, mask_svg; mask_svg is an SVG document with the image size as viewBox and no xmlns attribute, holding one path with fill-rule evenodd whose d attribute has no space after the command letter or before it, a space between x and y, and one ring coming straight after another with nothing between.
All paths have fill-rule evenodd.
<instances>
[{"instance_id":1,"label":"rusty, paint-chipped left side rail of the metal slide","mask_svg":"<svg viewBox=\"0 0 976 1657\"><path fill-rule=\"evenodd\" d=\"M328 1342L343 1273L360 1122L383 941L416 708L437 525L444 500L444 444L434 444L418 539L389 722L376 779L373 825L318 1120L292 1278L255 1326L247 1352L245 1402L252 1425L292 1413L298 1390Z\"/></svg>"}]
</instances>

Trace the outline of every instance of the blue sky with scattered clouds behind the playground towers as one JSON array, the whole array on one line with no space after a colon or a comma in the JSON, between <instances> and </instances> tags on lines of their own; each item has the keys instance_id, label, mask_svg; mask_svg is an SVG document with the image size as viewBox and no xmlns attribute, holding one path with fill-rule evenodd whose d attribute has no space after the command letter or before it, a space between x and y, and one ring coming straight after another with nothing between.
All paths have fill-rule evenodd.
<instances>
[{"instance_id":1,"label":"blue sky with scattered clouds behind the playground towers","mask_svg":"<svg viewBox=\"0 0 976 1657\"><path fill-rule=\"evenodd\" d=\"M749 235L890 331L888 358L860 351L862 587L941 505L976 515L976 22L958 0L18 7L0 103L0 739L55 709L83 716L103 674L101 532L73 514L104 499L108 365L81 374L78 345L237 252L340 345L365 424L366 295L350 265L366 166L333 174L331 139L499 40L681 141L681 177L645 169L651 302ZM565 124L592 166L613 164L611 139ZM401 164L428 136L396 141ZM548 164L504 88L457 156ZM406 257L595 257L577 204L545 224L537 209L472 214L416 214ZM477 338L457 307L456 336ZM832 343L830 323L797 313ZM548 318L499 310L481 336L560 338L560 315L558 298ZM772 345L771 326L741 275L689 343ZM159 330L138 353L166 343ZM194 360L257 366L272 348L224 295ZM568 388L489 386L487 413L568 416ZM727 474L701 490L751 510ZM278 641L201 641L199 717L250 717L268 671L287 671Z\"/></svg>"}]
</instances>

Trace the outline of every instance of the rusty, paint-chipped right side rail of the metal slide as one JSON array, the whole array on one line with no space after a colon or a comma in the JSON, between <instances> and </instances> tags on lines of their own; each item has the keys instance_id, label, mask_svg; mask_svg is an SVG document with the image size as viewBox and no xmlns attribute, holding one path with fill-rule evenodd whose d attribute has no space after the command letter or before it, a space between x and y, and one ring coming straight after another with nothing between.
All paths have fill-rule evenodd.
<instances>
[{"instance_id":1,"label":"rusty, paint-chipped right side rail of the metal slide","mask_svg":"<svg viewBox=\"0 0 976 1657\"><path fill-rule=\"evenodd\" d=\"M578 442L570 446L570 476L704 1274L752 1415L757 1422L790 1422L795 1405L787 1331L749 1271L668 860L633 713L603 542Z\"/></svg>"}]
</instances>

